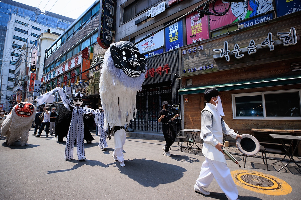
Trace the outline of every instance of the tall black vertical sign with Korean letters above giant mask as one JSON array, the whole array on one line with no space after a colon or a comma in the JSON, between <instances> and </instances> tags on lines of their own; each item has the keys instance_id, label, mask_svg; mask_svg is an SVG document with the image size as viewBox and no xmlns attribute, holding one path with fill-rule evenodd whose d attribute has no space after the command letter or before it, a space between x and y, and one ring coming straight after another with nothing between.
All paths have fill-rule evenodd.
<instances>
[{"instance_id":1,"label":"tall black vertical sign with Korean letters above giant mask","mask_svg":"<svg viewBox=\"0 0 301 200\"><path fill-rule=\"evenodd\" d=\"M100 47L108 49L113 43L114 24L116 21L116 0L103 0L100 3L99 28L97 42Z\"/></svg>"}]
</instances>

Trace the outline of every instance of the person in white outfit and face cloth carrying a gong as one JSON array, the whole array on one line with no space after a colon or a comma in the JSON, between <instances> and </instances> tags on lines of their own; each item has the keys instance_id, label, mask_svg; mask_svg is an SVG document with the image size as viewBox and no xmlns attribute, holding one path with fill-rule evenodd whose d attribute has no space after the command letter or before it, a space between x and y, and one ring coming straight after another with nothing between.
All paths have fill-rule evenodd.
<instances>
[{"instance_id":1,"label":"person in white outfit and face cloth carrying a gong","mask_svg":"<svg viewBox=\"0 0 301 200\"><path fill-rule=\"evenodd\" d=\"M201 112L201 138L204 140L202 153L205 161L193 188L197 192L209 195L210 192L205 191L203 187L208 187L215 178L228 199L236 200L238 190L226 164L222 141L223 133L236 139L241 136L230 129L221 118L221 115L224 116L224 111L219 91L216 88L206 89L204 98L207 103Z\"/></svg>"}]
</instances>

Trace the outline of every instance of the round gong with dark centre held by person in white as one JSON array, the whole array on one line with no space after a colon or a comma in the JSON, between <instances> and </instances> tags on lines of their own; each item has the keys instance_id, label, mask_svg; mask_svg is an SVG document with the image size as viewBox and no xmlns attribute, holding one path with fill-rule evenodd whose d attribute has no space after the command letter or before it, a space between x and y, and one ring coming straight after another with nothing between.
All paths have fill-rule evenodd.
<instances>
[{"instance_id":1,"label":"round gong with dark centre held by person in white","mask_svg":"<svg viewBox=\"0 0 301 200\"><path fill-rule=\"evenodd\" d=\"M243 134L236 140L236 147L241 153L252 156L259 152L260 145L254 136Z\"/></svg>"}]
</instances>

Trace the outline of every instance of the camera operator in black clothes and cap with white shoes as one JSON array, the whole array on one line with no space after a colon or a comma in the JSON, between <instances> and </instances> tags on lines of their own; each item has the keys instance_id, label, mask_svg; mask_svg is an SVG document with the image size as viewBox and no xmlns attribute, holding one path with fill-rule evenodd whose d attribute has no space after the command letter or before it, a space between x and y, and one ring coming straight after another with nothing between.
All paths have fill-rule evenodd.
<instances>
[{"instance_id":1,"label":"camera operator in black clothes and cap with white shoes","mask_svg":"<svg viewBox=\"0 0 301 200\"><path fill-rule=\"evenodd\" d=\"M177 138L175 131L173 130L173 126L171 121L173 121L176 117L179 117L179 114L170 113L168 109L172 106L168 104L167 101L163 101L162 103L162 110L158 114L158 122L162 122L162 132L165 139L165 147L162 149L164 150L163 155L171 156L169 153L169 148L172 146L172 143Z\"/></svg>"}]
</instances>

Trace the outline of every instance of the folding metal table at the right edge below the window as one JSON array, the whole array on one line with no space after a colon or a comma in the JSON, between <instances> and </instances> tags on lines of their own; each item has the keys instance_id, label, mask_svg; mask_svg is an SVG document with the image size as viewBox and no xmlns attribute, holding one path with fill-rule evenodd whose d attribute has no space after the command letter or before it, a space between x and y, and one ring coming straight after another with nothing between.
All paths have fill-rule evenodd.
<instances>
[{"instance_id":1,"label":"folding metal table at the right edge below the window","mask_svg":"<svg viewBox=\"0 0 301 200\"><path fill-rule=\"evenodd\" d=\"M293 158L293 155L294 155L294 153L296 152L297 147L298 147L298 144L299 144L299 142L300 142L300 140L301 140L301 136L295 136L295 135L277 135L277 134L269 134L269 135L270 135L272 138L274 138L274 139L279 139L280 142L281 142L282 147L283 147L284 150L285 150L284 157L283 157L282 159L278 160L277 162L281 162L286 156L288 156L288 158L289 158L288 163L287 163L286 165L284 165L282 168L278 169L277 172L279 172L280 170L282 170L283 168L285 168L286 166L288 166L288 164L289 164L291 161L293 161L299 168L301 168L301 166L298 165L298 164L295 162L294 158ZM291 141L291 143L289 144L288 148L285 146L283 140L290 140L290 141ZM293 150L293 153L291 154L291 153L289 153L289 149L292 147L293 141L297 141L297 144L296 144L295 149ZM275 163L277 163L277 162L275 162ZM273 164L275 164L275 163L273 163Z\"/></svg>"}]
</instances>

